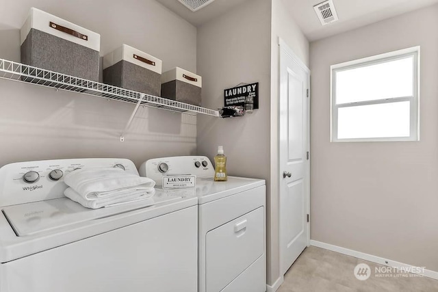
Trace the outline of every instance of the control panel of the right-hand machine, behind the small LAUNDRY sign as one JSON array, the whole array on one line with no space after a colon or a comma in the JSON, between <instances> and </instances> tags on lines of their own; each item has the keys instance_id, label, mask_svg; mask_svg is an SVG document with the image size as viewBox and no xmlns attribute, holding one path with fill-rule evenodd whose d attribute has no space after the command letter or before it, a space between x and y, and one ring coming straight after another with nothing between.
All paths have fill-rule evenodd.
<instances>
[{"instance_id":1,"label":"control panel of the right-hand machine, behind the small LAUNDRY sign","mask_svg":"<svg viewBox=\"0 0 438 292\"><path fill-rule=\"evenodd\" d=\"M140 166L140 176L146 176L156 185L162 185L166 175L191 174L197 177L213 177L214 165L206 156L177 156L154 158Z\"/></svg>"}]
</instances>

